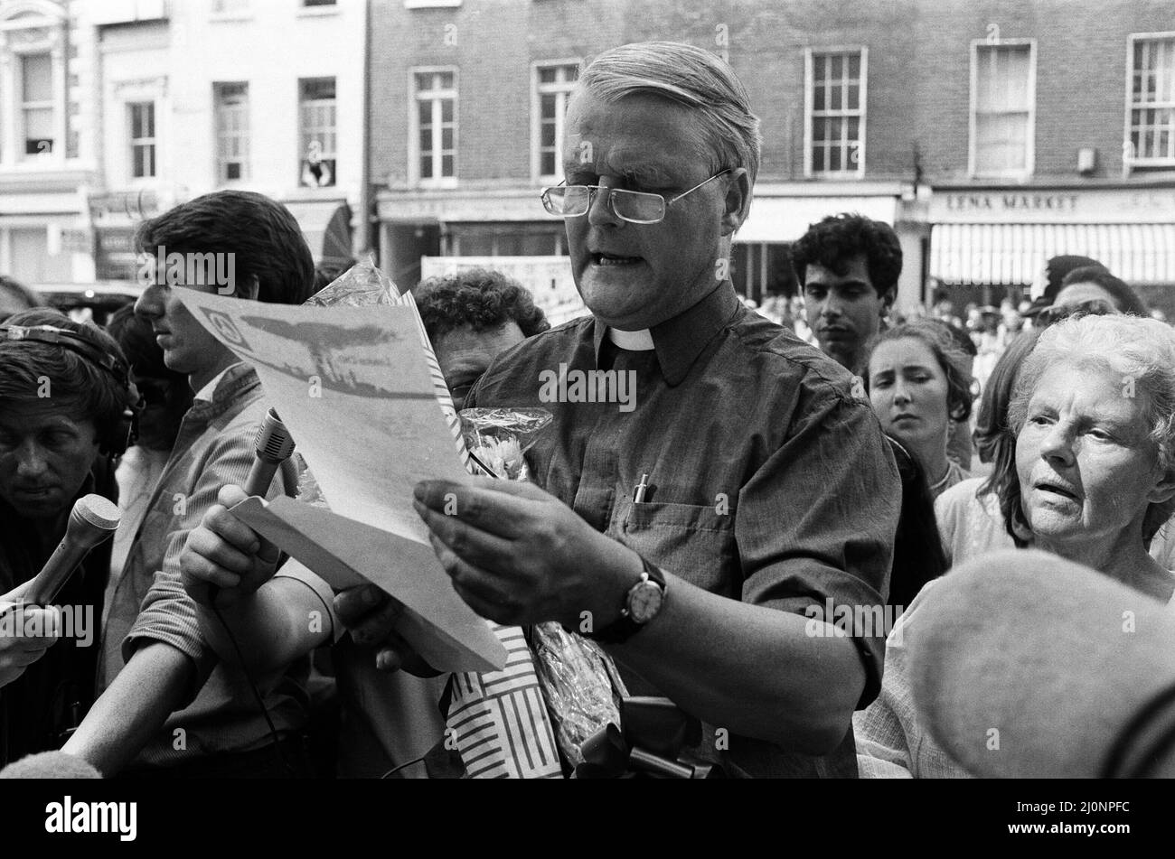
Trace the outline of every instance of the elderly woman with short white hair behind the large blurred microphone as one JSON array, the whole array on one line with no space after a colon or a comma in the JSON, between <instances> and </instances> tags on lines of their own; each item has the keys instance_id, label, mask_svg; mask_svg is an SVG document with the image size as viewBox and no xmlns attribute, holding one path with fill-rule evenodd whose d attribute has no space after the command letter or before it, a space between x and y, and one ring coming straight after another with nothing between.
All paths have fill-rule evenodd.
<instances>
[{"instance_id":1,"label":"elderly woman with short white hair behind the large blurred microphone","mask_svg":"<svg viewBox=\"0 0 1175 859\"><path fill-rule=\"evenodd\" d=\"M1016 545L1030 540L1170 602L1175 575L1147 543L1175 509L1175 331L1129 316L1056 324L1025 361L1008 424L1016 480L999 498ZM904 640L916 634L920 604L889 634L881 695L853 719L865 777L967 776L911 703Z\"/></svg>"}]
</instances>

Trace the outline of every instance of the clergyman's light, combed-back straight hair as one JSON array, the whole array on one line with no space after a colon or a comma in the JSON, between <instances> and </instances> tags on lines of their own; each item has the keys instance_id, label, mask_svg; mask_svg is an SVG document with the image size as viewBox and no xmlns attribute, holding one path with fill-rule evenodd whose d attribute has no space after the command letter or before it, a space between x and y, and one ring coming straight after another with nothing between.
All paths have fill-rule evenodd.
<instances>
[{"instance_id":1,"label":"clergyman's light, combed-back straight hair","mask_svg":"<svg viewBox=\"0 0 1175 859\"><path fill-rule=\"evenodd\" d=\"M579 87L604 102L654 95L698 111L703 134L721 158L718 167L759 173L759 117L734 70L709 50L682 42L634 42L599 54Z\"/></svg>"}]
</instances>

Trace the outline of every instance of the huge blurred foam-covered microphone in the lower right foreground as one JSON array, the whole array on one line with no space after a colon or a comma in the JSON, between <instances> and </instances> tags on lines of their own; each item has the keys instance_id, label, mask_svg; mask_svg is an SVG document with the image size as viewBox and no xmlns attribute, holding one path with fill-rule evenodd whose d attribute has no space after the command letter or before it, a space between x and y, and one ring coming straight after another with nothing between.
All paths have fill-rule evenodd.
<instances>
[{"instance_id":1,"label":"huge blurred foam-covered microphone in the lower right foreground","mask_svg":"<svg viewBox=\"0 0 1175 859\"><path fill-rule=\"evenodd\" d=\"M1038 550L961 564L905 636L914 705L973 775L1175 777L1175 614Z\"/></svg>"}]
</instances>

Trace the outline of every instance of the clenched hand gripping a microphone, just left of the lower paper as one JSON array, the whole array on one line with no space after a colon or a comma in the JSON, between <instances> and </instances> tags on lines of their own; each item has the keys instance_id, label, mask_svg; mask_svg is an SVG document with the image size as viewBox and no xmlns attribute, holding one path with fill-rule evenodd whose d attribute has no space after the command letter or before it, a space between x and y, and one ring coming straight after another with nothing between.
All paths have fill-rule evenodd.
<instances>
[{"instance_id":1,"label":"clenched hand gripping a microphone, just left of the lower paper","mask_svg":"<svg viewBox=\"0 0 1175 859\"><path fill-rule=\"evenodd\" d=\"M228 508L247 498L239 486L221 487L204 518L188 535L180 555L183 589L201 606L212 604L212 588L220 593L217 606L231 606L273 579L278 552L264 543L257 532L239 520ZM271 556L262 557L267 546Z\"/></svg>"}]
</instances>

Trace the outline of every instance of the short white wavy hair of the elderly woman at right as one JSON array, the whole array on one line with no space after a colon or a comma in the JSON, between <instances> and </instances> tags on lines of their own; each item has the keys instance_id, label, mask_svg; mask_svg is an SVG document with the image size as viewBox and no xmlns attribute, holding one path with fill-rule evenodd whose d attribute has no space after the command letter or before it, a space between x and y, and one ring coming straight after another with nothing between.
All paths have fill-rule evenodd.
<instances>
[{"instance_id":1,"label":"short white wavy hair of the elderly woman at right","mask_svg":"<svg viewBox=\"0 0 1175 859\"><path fill-rule=\"evenodd\" d=\"M1008 406L1014 435L1025 425L1041 376L1058 361L1117 376L1123 395L1141 398L1160 467L1175 467L1175 330L1157 319L1114 314L1074 317L1046 329L1025 361Z\"/></svg>"}]
</instances>

